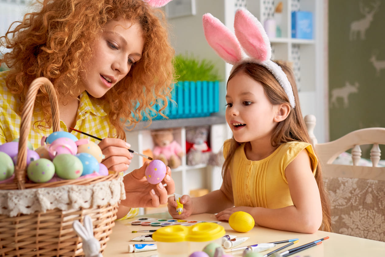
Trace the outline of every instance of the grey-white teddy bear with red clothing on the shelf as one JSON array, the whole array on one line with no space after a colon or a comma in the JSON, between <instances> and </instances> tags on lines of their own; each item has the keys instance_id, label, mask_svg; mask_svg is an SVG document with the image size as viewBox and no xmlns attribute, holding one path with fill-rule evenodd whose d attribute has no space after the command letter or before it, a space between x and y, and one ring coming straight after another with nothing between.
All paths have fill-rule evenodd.
<instances>
[{"instance_id":1,"label":"grey-white teddy bear with red clothing on the shelf","mask_svg":"<svg viewBox=\"0 0 385 257\"><path fill-rule=\"evenodd\" d=\"M211 149L208 146L209 127L186 129L186 163L189 166L208 164Z\"/></svg>"}]
</instances>

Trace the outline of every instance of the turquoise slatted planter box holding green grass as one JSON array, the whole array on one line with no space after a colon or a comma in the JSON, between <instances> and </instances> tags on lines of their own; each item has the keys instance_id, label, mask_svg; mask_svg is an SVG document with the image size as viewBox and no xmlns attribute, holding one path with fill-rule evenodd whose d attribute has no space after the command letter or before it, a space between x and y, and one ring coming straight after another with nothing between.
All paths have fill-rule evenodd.
<instances>
[{"instance_id":1,"label":"turquoise slatted planter box holding green grass","mask_svg":"<svg viewBox=\"0 0 385 257\"><path fill-rule=\"evenodd\" d=\"M159 104L154 105L159 111ZM178 81L171 91L164 114L169 119L210 116L219 111L219 81ZM153 120L164 119L150 111ZM144 118L146 120L146 118Z\"/></svg>"}]
</instances>

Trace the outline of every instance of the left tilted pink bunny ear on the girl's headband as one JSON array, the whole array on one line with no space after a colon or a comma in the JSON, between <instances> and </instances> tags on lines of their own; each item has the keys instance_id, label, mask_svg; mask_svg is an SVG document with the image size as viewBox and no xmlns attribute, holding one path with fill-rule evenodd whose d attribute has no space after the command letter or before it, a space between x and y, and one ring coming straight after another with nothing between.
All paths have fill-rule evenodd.
<instances>
[{"instance_id":1,"label":"left tilted pink bunny ear on the girl's headband","mask_svg":"<svg viewBox=\"0 0 385 257\"><path fill-rule=\"evenodd\" d=\"M211 13L203 15L203 30L209 45L229 64L236 64L242 58L242 49L233 32Z\"/></svg>"}]
</instances>

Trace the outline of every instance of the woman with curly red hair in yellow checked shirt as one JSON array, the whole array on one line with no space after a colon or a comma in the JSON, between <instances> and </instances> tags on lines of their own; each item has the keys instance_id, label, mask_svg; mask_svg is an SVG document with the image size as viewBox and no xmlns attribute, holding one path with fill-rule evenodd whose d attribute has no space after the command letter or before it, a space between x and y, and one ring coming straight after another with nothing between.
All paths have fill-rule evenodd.
<instances>
[{"instance_id":1,"label":"woman with curly red hair in yellow checked shirt","mask_svg":"<svg viewBox=\"0 0 385 257\"><path fill-rule=\"evenodd\" d=\"M159 7L169 0L149 2ZM135 125L157 101L167 102L172 89L174 50L164 13L142 0L52 0L35 3L34 10L0 37L0 46L9 49L0 57L9 69L0 73L0 143L20 136L28 86L44 76L57 90L60 128L77 138L94 140L70 127L104 138L95 141L105 155L102 163L127 170L133 156L124 126ZM37 148L52 133L45 89L37 94L32 125L28 139ZM152 185L146 165L124 177L127 199L118 217L130 207L166 203L174 192L169 168L165 180Z\"/></svg>"}]
</instances>

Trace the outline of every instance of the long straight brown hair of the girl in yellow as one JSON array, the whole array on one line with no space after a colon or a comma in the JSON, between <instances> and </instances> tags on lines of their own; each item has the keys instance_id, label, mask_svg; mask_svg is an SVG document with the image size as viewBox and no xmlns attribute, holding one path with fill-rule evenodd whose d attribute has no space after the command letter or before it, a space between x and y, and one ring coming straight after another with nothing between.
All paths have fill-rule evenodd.
<instances>
[{"instance_id":1,"label":"long straight brown hair of the girl in yellow","mask_svg":"<svg viewBox=\"0 0 385 257\"><path fill-rule=\"evenodd\" d=\"M302 112L300 108L300 102L298 100L298 90L295 83L295 78L290 67L287 66L284 62L278 63L282 70L286 73L286 76L289 79L291 86L293 87L293 93L295 98L296 106L291 108L289 116L284 120L278 123L275 131L271 135L271 145L279 146L281 144L290 142L290 141L301 141L311 144L311 140L306 129L305 121L302 117ZM234 77L239 72L244 72L244 74L250 76L255 81L258 81L262 84L264 92L268 97L271 104L283 104L289 103L289 99L276 81L275 77L263 66L254 63L243 63L239 64L234 71L230 74L228 81ZM290 103L289 103L290 104ZM229 170L230 163L233 159L236 149L241 144L235 141L234 137L231 138L231 144L229 152L225 158L223 167L222 167L222 176L225 178L226 173ZM323 185L321 164L318 162L315 174L315 180L317 181L318 189L320 190L321 205L322 205L322 224L321 229L330 232L331 230L331 220L330 220L330 202L328 194L326 193L325 186Z\"/></svg>"}]
</instances>

